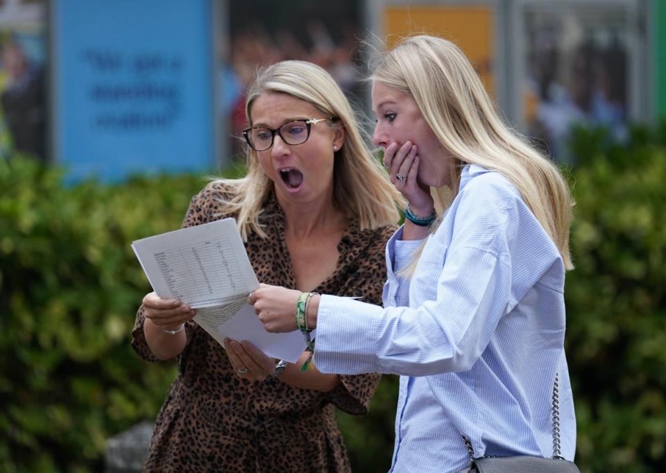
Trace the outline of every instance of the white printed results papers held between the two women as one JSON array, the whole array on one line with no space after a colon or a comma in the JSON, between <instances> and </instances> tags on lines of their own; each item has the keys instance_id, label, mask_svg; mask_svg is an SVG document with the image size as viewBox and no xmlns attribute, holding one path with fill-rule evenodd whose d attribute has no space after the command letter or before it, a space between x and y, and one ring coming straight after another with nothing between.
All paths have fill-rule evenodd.
<instances>
[{"instance_id":1,"label":"white printed results papers held between the two women","mask_svg":"<svg viewBox=\"0 0 666 473\"><path fill-rule=\"evenodd\" d=\"M259 282L233 218L148 236L132 248L153 291L196 309L194 321L222 345L224 338L247 340L291 363L305 350L298 330L266 332L247 304Z\"/></svg>"}]
</instances>

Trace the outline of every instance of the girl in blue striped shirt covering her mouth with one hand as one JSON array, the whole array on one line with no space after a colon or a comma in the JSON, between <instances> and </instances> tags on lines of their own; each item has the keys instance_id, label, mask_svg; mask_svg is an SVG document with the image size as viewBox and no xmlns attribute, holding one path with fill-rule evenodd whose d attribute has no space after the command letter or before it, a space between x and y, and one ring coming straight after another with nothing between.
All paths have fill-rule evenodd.
<instances>
[{"instance_id":1,"label":"girl in blue striped shirt covering her mouth with one hand","mask_svg":"<svg viewBox=\"0 0 666 473\"><path fill-rule=\"evenodd\" d=\"M384 308L262 284L259 319L270 332L316 328L321 372L401 375L391 472L467 472L480 456L572 460L565 180L502 123L452 42L403 40L372 78L373 139L408 201L386 249Z\"/></svg>"}]
</instances>

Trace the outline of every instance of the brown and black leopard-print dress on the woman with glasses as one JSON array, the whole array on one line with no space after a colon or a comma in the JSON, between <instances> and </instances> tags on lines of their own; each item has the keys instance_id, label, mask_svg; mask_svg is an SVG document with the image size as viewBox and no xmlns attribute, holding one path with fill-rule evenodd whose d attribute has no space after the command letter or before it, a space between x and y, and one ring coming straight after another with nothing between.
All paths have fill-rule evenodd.
<instances>
[{"instance_id":1,"label":"brown and black leopard-print dress on the woman with glasses","mask_svg":"<svg viewBox=\"0 0 666 473\"><path fill-rule=\"evenodd\" d=\"M192 198L183 227L223 218L219 199L233 188L212 182ZM246 250L259 282L295 287L284 239L284 214L273 193L262 212L268 238L248 236ZM359 230L348 225L338 245L334 273L314 291L362 295L381 304L386 279L384 250L393 225ZM132 345L148 361L159 361L144 337L137 312ZM379 375L341 376L329 393L296 388L279 378L253 383L239 379L223 348L194 322L178 356L179 375L157 415L144 472L348 472L350 463L337 428L334 406L364 414Z\"/></svg>"}]
</instances>

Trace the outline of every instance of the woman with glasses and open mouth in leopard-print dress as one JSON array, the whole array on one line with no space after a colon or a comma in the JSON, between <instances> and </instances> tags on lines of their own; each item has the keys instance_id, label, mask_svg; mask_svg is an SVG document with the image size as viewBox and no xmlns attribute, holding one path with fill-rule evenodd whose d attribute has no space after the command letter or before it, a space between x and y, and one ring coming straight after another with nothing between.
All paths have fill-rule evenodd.
<instances>
[{"instance_id":1,"label":"woman with glasses and open mouth in leopard-print dress","mask_svg":"<svg viewBox=\"0 0 666 473\"><path fill-rule=\"evenodd\" d=\"M323 69L285 61L248 91L249 170L192 199L185 227L237 219L259 280L381 302L384 248L398 221L395 191L361 139L352 109ZM227 350L178 300L146 295L133 346L178 358L146 458L149 472L345 472L334 406L362 414L379 375L302 371L246 342Z\"/></svg>"}]
</instances>

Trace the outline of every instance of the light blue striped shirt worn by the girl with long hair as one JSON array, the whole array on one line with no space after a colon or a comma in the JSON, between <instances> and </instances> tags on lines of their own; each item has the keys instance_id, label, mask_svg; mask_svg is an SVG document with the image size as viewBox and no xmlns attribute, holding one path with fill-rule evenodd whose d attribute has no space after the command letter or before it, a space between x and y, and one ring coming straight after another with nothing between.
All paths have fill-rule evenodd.
<instances>
[{"instance_id":1,"label":"light blue striped shirt worn by the girl with long hair","mask_svg":"<svg viewBox=\"0 0 666 473\"><path fill-rule=\"evenodd\" d=\"M504 176L466 166L411 279L422 241L386 249L384 309L323 295L315 363L323 372L402 375L391 472L457 472L475 456L552 456L559 378L561 454L576 422L563 342L564 265Z\"/></svg>"}]
</instances>

